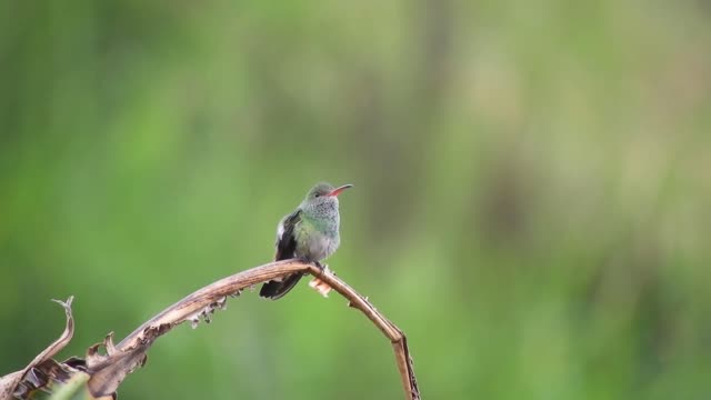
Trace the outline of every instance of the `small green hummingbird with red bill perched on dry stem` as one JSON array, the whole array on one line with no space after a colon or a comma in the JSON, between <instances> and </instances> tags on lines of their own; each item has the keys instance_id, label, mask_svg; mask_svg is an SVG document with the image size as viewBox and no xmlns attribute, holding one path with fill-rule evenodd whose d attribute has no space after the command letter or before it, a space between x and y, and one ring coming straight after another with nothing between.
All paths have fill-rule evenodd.
<instances>
[{"instance_id":1,"label":"small green hummingbird with red bill perched on dry stem","mask_svg":"<svg viewBox=\"0 0 711 400\"><path fill-rule=\"evenodd\" d=\"M317 183L301 204L284 216L277 226L277 254L274 261L300 258L307 262L326 260L341 243L338 196L352 184L334 188L329 183ZM297 272L264 283L259 296L277 300L287 294L303 273Z\"/></svg>"}]
</instances>

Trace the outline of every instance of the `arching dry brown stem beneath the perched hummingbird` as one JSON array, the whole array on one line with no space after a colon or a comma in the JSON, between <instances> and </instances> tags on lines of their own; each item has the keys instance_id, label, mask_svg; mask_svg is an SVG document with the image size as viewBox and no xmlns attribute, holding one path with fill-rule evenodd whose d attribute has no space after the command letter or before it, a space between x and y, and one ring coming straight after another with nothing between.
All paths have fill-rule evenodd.
<instances>
[{"instance_id":1,"label":"arching dry brown stem beneath the perched hummingbird","mask_svg":"<svg viewBox=\"0 0 711 400\"><path fill-rule=\"evenodd\" d=\"M161 311L118 344L113 343L113 332L111 332L101 343L93 344L88 349L86 360L72 358L61 364L74 371L87 372L91 377L87 382L87 388L94 398L113 397L121 381L146 363L146 352L156 339L186 321L190 321L193 328L200 320L210 322L212 313L224 308L228 297L237 297L246 288L294 272L312 274L329 284L349 300L350 307L363 312L382 331L392 343L405 399L420 400L404 333L378 312L367 298L359 294L328 269L321 270L298 259L270 262L223 278ZM104 348L106 354L101 354L99 348Z\"/></svg>"}]
</instances>

